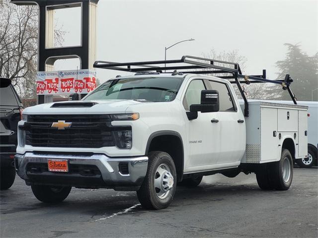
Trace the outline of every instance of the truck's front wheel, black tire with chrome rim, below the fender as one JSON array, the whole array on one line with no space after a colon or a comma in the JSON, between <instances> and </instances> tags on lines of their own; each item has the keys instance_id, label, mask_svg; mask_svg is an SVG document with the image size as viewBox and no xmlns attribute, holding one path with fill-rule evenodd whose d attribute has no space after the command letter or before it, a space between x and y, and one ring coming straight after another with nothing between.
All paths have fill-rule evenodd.
<instances>
[{"instance_id":1,"label":"truck's front wheel, black tire with chrome rim, below the fender","mask_svg":"<svg viewBox=\"0 0 318 238\"><path fill-rule=\"evenodd\" d=\"M167 180L164 184L167 190L162 189L162 187L155 188L155 179L157 179L157 182L162 181L163 184L164 182L162 179L164 178ZM161 182L159 184L161 185ZM162 151L150 152L147 174L143 184L137 191L137 196L141 205L146 209L159 210L166 208L173 200L175 189L176 170L171 156ZM160 195L161 193L163 194L162 196ZM161 198L159 196L161 196Z\"/></svg>"}]
</instances>

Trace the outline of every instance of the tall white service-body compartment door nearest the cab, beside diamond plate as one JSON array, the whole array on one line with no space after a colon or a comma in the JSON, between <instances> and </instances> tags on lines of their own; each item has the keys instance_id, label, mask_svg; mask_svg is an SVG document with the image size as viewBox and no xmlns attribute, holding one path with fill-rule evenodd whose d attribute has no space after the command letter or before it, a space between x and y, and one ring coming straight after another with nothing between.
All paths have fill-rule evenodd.
<instances>
[{"instance_id":1,"label":"tall white service-body compartment door nearest the cab, beside diamond plate","mask_svg":"<svg viewBox=\"0 0 318 238\"><path fill-rule=\"evenodd\" d=\"M261 158L260 161L279 160L280 148L277 132L277 109L261 107Z\"/></svg>"}]
</instances>

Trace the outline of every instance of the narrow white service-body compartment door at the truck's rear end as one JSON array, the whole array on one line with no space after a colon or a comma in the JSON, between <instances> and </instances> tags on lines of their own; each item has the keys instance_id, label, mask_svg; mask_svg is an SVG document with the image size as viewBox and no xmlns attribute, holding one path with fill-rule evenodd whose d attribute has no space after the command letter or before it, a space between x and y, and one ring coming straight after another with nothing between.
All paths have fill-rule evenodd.
<instances>
[{"instance_id":1,"label":"narrow white service-body compartment door at the truck's rear end","mask_svg":"<svg viewBox=\"0 0 318 238\"><path fill-rule=\"evenodd\" d=\"M308 154L307 111L298 111L298 157Z\"/></svg>"}]
</instances>

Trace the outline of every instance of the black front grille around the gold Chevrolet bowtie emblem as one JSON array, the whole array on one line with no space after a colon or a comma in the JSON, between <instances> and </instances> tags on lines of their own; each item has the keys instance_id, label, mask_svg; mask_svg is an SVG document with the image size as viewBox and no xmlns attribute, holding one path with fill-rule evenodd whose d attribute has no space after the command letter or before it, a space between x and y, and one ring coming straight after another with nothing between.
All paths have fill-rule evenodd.
<instances>
[{"instance_id":1,"label":"black front grille around the gold Chevrolet bowtie emblem","mask_svg":"<svg viewBox=\"0 0 318 238\"><path fill-rule=\"evenodd\" d=\"M70 127L58 129L53 122L72 122ZM115 146L112 131L131 127L111 125L110 115L29 115L21 129L26 144L37 147L100 148Z\"/></svg>"}]
</instances>

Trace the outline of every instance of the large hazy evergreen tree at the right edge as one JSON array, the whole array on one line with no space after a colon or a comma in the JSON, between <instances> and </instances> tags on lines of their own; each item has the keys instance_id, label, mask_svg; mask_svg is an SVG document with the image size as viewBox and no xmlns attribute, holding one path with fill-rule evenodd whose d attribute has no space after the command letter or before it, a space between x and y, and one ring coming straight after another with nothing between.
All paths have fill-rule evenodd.
<instances>
[{"instance_id":1,"label":"large hazy evergreen tree at the right edge","mask_svg":"<svg viewBox=\"0 0 318 238\"><path fill-rule=\"evenodd\" d=\"M278 79L284 79L286 74L290 74L294 82L291 85L293 93L298 101L318 101L318 93L312 91L318 88L318 53L314 56L308 56L303 52L299 44L284 44L288 52L285 60L276 62L277 68L280 70ZM270 92L272 90L272 92ZM272 99L291 100L286 91L282 91L281 87L271 86L269 93ZM312 94L313 93L313 94Z\"/></svg>"}]
</instances>

